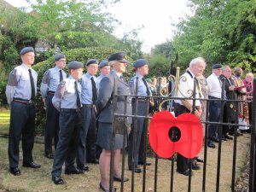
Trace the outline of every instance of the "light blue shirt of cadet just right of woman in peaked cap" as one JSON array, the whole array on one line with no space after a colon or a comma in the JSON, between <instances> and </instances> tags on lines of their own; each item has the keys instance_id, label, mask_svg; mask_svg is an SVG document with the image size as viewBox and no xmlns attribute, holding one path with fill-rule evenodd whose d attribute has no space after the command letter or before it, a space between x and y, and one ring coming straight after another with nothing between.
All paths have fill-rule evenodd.
<instances>
[{"instance_id":1,"label":"light blue shirt of cadet just right of woman in peaked cap","mask_svg":"<svg viewBox=\"0 0 256 192\"><path fill-rule=\"evenodd\" d=\"M131 81L130 81L131 95L136 95L136 85L138 85L137 96L148 96L147 87L143 82L143 75L137 73L136 76L131 78Z\"/></svg>"}]
</instances>

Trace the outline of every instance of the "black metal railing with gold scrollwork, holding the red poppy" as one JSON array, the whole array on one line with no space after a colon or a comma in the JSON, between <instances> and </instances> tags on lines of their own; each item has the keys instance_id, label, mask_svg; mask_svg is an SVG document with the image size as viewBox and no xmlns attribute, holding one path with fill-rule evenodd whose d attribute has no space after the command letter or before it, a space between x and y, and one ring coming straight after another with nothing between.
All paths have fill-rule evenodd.
<instances>
[{"instance_id":1,"label":"black metal railing with gold scrollwork, holding the red poppy","mask_svg":"<svg viewBox=\"0 0 256 192\"><path fill-rule=\"evenodd\" d=\"M256 79L253 79L253 85L254 87L256 87ZM116 84L115 84L116 87ZM224 87L223 87L224 90ZM195 91L195 90L194 90ZM149 108L149 100L150 99L154 99L154 101L157 101L157 103L160 103L160 101L162 100L166 100L166 101L173 101L173 100L183 100L184 98L181 97L175 97L175 96L160 96L160 90L158 90L158 94L156 96L145 96L146 102L147 102L147 108L145 108L146 110L146 115L145 116L140 116L137 114L137 103L138 103L138 96L137 96L137 90L136 90L136 95L132 96L134 98L134 113L131 115L128 115L126 113L126 108L124 113L116 113L116 97L118 97L116 95L116 89L115 89L115 94L114 94L114 99L113 99L113 119L116 119L117 117L129 117L129 118L133 118L133 121L135 122L134 126L133 126L133 136L134 139L133 141L137 141L136 137L137 137L137 119L148 119L150 120L152 117L149 116L148 114L148 108ZM124 97L124 96L123 96ZM125 102L127 102L127 99L129 99L131 96L125 96ZM256 135L255 135L255 119L256 119L256 100L254 99L256 98L256 90L253 91L253 119L252 119L252 125L249 125L250 129L251 129L251 142L250 142L250 166L249 166L249 183L248 183L248 191L249 192L253 192L256 189L255 186L255 140L256 140ZM192 96L192 98L189 98L189 100L193 100L193 110L192 112L195 110L195 95ZM207 108L206 108L206 113L209 112L209 102L214 101L215 99L200 99L201 101L207 101ZM202 185L201 185L201 191L207 191L207 160L208 160L208 148L207 148L207 135L208 135L208 126L211 124L217 124L218 125L218 137L222 138L223 136L223 130L222 130L222 125L230 125L230 126L235 126L234 129L234 140L233 140L233 154L232 154L232 176L231 176L231 180L230 180L230 191L236 191L236 151L237 151L237 129L239 126L244 126L244 125L240 125L238 122L238 102L247 102L247 101L241 101L241 100L229 100L229 102L235 102L235 108L236 108L236 121L235 123L231 124L231 123L224 123L223 122L223 113L224 113L224 102L226 102L226 100L224 99L224 91L222 92L222 98L221 100L218 100L221 102L221 113L220 113L220 119L219 122L210 122L208 115L206 116L205 120L201 121L201 124L205 125L205 140L204 140L204 149L203 149L203 154L204 154L204 164L203 164L203 173L202 173ZM113 139L112 139L112 148L114 148L114 135L116 133L115 130L115 124L117 122L115 122L115 120L113 120ZM146 162L147 160L147 150L148 150L148 145L147 145L147 141L148 141L148 124L146 126L143 127L144 129L144 135L143 135L143 139L144 139L144 148L143 148L143 160L144 162ZM127 131L129 130L129 125L127 125L127 121L125 122L125 127L124 127L123 134L125 135L127 133ZM127 137L124 137L124 148L125 148L125 143L127 142ZM134 153L135 153L135 144L133 145L132 148L132 166L134 168ZM218 160L217 160L217 169L216 169L216 186L215 186L215 190L216 192L220 191L220 174L221 174L221 157L222 157L222 140L219 139L218 140ZM111 189L113 189L113 149L112 149L112 153L111 153L111 166L110 166L110 191ZM125 156L126 156L126 152L125 149L122 150L122 173L121 173L121 177L124 178L125 175ZM158 169L159 169L159 156L157 154L155 154L155 159L154 159L154 191L158 191ZM170 159L171 161L171 169L166 169L166 172L170 172L170 188L168 188L166 186L166 191L173 191L173 186L176 182L176 180L174 179L174 162L175 162L175 157L172 156L172 158ZM147 180L147 172L146 172L146 165L143 165L143 187L142 189L140 189L140 191L146 191L146 180ZM191 185L192 185L192 174L191 174L191 170L192 170L192 163L191 160L189 162L189 178L188 178L188 189L187 191L191 191ZM197 182L198 183L198 182ZM135 172L134 169L132 169L131 172L131 189L126 189L125 190L125 186L124 183L121 182L120 185L120 191L135 191L135 186L136 186L136 180L135 180ZM184 183L181 183L184 184ZM137 191L136 191L137 192Z\"/></svg>"}]
</instances>

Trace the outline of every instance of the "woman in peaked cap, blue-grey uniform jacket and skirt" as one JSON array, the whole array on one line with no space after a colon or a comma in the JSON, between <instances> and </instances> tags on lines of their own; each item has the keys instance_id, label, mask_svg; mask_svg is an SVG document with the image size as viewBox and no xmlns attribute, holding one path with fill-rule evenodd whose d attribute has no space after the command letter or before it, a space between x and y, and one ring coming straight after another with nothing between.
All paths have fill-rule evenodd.
<instances>
[{"instance_id":1,"label":"woman in peaked cap, blue-grey uniform jacket and skirt","mask_svg":"<svg viewBox=\"0 0 256 192\"><path fill-rule=\"evenodd\" d=\"M129 84L122 79L122 73L125 73L125 68L128 61L125 58L125 52L119 52L110 55L108 58L109 65L113 67L113 71L109 73L107 77L104 77L99 84L98 97L96 101L96 109L98 113L98 134L96 143L102 148L102 154L100 156L100 172L101 183L100 188L103 191L109 190L109 166L111 156L111 139L112 139L112 121L113 121L113 82L116 79L117 84L117 111L116 113L124 114L125 106L127 108L127 114L131 114L131 98L128 97L125 103L125 96L131 95ZM124 119L125 120L125 119ZM128 123L131 123L131 119L128 119ZM125 129L124 126L118 124L121 127L119 129ZM125 132L125 131L124 131ZM119 156L120 148L123 148L123 135L115 135L114 143L114 166L113 166L113 179L121 181L119 173ZM127 135L125 134L125 137ZM123 181L126 182L129 179L124 177Z\"/></svg>"}]
</instances>

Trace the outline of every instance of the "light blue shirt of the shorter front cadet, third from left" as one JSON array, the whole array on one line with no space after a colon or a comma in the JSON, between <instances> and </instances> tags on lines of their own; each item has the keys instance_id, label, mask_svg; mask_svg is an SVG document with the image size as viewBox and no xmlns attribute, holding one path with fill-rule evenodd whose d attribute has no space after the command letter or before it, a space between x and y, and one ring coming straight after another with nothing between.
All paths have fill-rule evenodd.
<instances>
[{"instance_id":1,"label":"light blue shirt of the shorter front cadet, third from left","mask_svg":"<svg viewBox=\"0 0 256 192\"><path fill-rule=\"evenodd\" d=\"M61 108L77 108L77 94L75 91L75 81L76 79L73 79L73 77L70 75L67 79L64 79L58 85L58 88L55 91L55 96L52 98L52 104L58 111L61 111ZM78 90L81 101L81 84L79 82Z\"/></svg>"}]
</instances>

